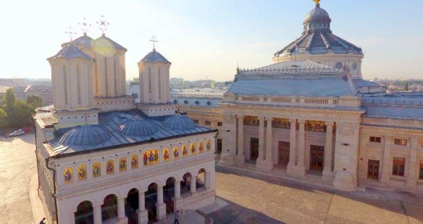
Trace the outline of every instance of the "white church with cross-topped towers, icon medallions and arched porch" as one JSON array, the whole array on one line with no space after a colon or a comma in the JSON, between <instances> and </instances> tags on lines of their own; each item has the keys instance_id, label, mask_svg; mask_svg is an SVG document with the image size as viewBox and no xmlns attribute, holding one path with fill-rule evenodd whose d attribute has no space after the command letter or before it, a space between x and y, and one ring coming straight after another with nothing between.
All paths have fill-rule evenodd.
<instances>
[{"instance_id":1,"label":"white church with cross-topped towers, icon medallions and arched porch","mask_svg":"<svg viewBox=\"0 0 423 224\"><path fill-rule=\"evenodd\" d=\"M139 62L135 103L125 52L85 33L47 59L54 104L34 120L48 223L152 223L215 203L217 131L175 113L171 63L155 49Z\"/></svg>"}]
</instances>

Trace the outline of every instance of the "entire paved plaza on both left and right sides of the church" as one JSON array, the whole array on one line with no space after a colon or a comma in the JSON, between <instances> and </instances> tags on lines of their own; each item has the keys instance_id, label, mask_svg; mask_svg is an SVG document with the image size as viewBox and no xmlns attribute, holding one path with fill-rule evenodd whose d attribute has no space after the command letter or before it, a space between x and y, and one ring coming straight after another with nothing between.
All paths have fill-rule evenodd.
<instances>
[{"instance_id":1,"label":"entire paved plaza on both left and right sides of the church","mask_svg":"<svg viewBox=\"0 0 423 224\"><path fill-rule=\"evenodd\" d=\"M37 172L34 141L34 134L0 139L2 224L33 222L28 189ZM341 192L220 166L216 195L229 205L208 214L215 224L423 223L423 195L370 188Z\"/></svg>"}]
</instances>

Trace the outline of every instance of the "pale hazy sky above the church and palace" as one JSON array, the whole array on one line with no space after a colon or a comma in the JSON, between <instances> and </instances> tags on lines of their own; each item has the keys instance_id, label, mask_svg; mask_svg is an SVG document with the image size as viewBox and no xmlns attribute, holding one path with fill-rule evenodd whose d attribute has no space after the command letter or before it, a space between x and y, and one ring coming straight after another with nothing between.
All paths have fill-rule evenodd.
<instances>
[{"instance_id":1,"label":"pale hazy sky above the church and palace","mask_svg":"<svg viewBox=\"0 0 423 224\"><path fill-rule=\"evenodd\" d=\"M365 52L363 78L423 79L422 0L321 0L333 34ZM172 62L170 77L232 80L240 68L272 64L274 53L300 37L312 0L10 0L0 9L0 78L51 78L47 58L70 40L69 26L93 39L96 21L128 49L127 79L156 49Z\"/></svg>"}]
</instances>

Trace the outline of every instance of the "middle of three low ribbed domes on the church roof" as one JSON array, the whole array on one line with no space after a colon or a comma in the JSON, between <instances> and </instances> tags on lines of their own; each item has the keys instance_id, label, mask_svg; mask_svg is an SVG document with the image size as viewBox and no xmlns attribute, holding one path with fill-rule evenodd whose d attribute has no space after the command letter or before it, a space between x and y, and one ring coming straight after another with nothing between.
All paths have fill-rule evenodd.
<instances>
[{"instance_id":1,"label":"middle of three low ribbed domes on the church roof","mask_svg":"<svg viewBox=\"0 0 423 224\"><path fill-rule=\"evenodd\" d=\"M134 118L126 121L118 128L119 132L127 135L148 136L157 133L156 125L149 120Z\"/></svg>"}]
</instances>

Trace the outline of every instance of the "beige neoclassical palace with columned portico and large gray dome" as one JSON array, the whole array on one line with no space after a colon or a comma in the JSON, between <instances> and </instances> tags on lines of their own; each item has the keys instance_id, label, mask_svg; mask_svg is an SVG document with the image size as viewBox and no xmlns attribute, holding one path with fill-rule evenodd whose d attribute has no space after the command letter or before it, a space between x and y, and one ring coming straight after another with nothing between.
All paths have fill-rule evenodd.
<instances>
[{"instance_id":1,"label":"beige neoclassical palace with columned portico and large gray dome","mask_svg":"<svg viewBox=\"0 0 423 224\"><path fill-rule=\"evenodd\" d=\"M237 69L220 97L174 91L171 100L201 125L221 124L220 165L342 190L422 193L423 94L386 94L363 80L362 49L330 23L316 0L274 64Z\"/></svg>"}]
</instances>

